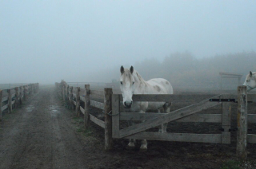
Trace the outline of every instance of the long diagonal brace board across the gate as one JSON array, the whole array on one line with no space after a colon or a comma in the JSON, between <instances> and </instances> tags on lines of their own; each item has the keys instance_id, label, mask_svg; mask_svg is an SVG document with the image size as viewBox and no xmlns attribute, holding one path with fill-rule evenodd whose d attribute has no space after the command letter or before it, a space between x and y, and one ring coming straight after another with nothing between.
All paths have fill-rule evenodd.
<instances>
[{"instance_id":1,"label":"long diagonal brace board across the gate","mask_svg":"<svg viewBox=\"0 0 256 169\"><path fill-rule=\"evenodd\" d=\"M219 98L220 96L215 96L213 98ZM166 124L173 120L178 120L182 117L189 116L191 114L194 114L195 112L200 112L206 108L211 108L220 103L218 102L210 102L209 100L203 100L199 102L198 104L192 104L190 106L187 106L185 108L181 108L178 110L175 110L170 113L166 113L164 116L159 116L154 119L146 120L145 122L141 124L135 124L134 126L130 126L128 128L124 128L120 130L120 138L130 136L132 134L135 134L137 132L145 131L149 128L154 128L160 124Z\"/></svg>"}]
</instances>

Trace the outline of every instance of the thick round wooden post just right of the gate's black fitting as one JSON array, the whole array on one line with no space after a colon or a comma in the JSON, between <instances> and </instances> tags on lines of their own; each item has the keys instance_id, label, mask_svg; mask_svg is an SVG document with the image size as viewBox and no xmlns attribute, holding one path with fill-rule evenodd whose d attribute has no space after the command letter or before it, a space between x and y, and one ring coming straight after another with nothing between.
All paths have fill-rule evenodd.
<instances>
[{"instance_id":1,"label":"thick round wooden post just right of the gate's black fitting","mask_svg":"<svg viewBox=\"0 0 256 169\"><path fill-rule=\"evenodd\" d=\"M237 157L247 158L247 90L246 86L238 86L238 133L237 133Z\"/></svg>"}]
</instances>

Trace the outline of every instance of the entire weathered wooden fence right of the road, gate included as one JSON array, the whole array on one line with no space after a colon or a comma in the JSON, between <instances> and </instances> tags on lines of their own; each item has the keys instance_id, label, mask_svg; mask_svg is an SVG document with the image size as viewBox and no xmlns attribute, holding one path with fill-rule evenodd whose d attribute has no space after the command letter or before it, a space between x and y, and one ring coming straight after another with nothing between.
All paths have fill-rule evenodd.
<instances>
[{"instance_id":1,"label":"entire weathered wooden fence right of the road, gate included","mask_svg":"<svg viewBox=\"0 0 256 169\"><path fill-rule=\"evenodd\" d=\"M138 139L138 140L165 140L165 141L182 141L182 142L199 142L199 143L230 143L231 126L231 102L234 100L238 103L238 139L237 139L237 156L239 159L246 159L246 143L256 143L256 135L247 134L247 124L256 123L256 115L247 115L247 101L256 102L255 94L246 93L246 86L238 86L238 95L222 94L211 97L208 100L202 100L185 108L175 110L170 113L139 113L139 112L120 112L120 103L122 95L113 94L111 88L104 88L103 91L90 90L90 85L85 85L84 96L80 96L80 88L75 88L63 83L56 83L59 95L64 100L68 100L76 106L76 112L84 114L85 127L91 120L95 124L105 129L105 149L112 148L112 139ZM104 98L104 103L90 100L90 96ZM187 100L190 96L186 95L134 95L133 101L152 101L152 102L178 102ZM197 99L197 95L193 96ZM201 97L201 96L199 96ZM73 99L74 98L74 99ZM80 106L80 100L85 103L84 108ZM217 100L217 101L210 101ZM225 101L224 101L225 100ZM222 104L221 114L197 113L207 108ZM100 108L105 112L105 121L99 120L90 114L89 107ZM121 120L142 121L140 124L120 128ZM195 133L159 133L145 132L147 129L155 128L161 124L171 121L175 122L197 122L197 123L219 123L222 124L220 134L195 134Z\"/></svg>"}]
</instances>

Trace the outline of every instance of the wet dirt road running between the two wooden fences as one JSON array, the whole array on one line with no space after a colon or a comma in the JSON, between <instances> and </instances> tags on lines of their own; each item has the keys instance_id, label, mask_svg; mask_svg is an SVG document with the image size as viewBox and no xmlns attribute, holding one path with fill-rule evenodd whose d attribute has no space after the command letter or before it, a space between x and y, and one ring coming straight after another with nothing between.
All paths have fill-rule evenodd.
<instances>
[{"instance_id":1,"label":"wet dirt road running between the two wooden fences","mask_svg":"<svg viewBox=\"0 0 256 169\"><path fill-rule=\"evenodd\" d=\"M1 123L0 168L86 168L90 153L76 135L70 112L41 89Z\"/></svg>"}]
</instances>

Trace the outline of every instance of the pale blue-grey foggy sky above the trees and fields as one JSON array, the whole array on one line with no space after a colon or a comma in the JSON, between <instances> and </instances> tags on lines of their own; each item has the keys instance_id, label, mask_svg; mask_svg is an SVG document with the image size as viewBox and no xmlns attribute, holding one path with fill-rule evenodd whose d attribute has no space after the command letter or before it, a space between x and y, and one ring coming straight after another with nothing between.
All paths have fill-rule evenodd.
<instances>
[{"instance_id":1,"label":"pale blue-grey foggy sky above the trees and fields","mask_svg":"<svg viewBox=\"0 0 256 169\"><path fill-rule=\"evenodd\" d=\"M175 52L256 51L255 9L256 1L2 0L0 84L90 81Z\"/></svg>"}]
</instances>

